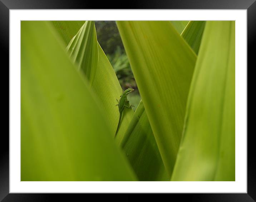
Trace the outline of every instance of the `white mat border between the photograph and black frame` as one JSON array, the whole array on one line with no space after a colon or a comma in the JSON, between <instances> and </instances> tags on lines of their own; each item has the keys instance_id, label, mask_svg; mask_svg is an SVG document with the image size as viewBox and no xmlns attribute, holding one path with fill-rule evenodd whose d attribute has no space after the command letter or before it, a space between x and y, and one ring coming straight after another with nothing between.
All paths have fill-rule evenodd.
<instances>
[{"instance_id":1,"label":"white mat border between the photograph and black frame","mask_svg":"<svg viewBox=\"0 0 256 202\"><path fill-rule=\"evenodd\" d=\"M236 20L235 182L20 182L20 20ZM10 10L10 193L247 193L247 10Z\"/></svg>"}]
</instances>

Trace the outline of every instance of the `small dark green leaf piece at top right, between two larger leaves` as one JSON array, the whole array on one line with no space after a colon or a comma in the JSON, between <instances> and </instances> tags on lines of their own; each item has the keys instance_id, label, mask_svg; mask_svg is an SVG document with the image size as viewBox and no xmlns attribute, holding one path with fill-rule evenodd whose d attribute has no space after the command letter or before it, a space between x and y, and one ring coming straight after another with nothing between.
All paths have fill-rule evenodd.
<instances>
[{"instance_id":1,"label":"small dark green leaf piece at top right, between two larger leaves","mask_svg":"<svg viewBox=\"0 0 256 202\"><path fill-rule=\"evenodd\" d=\"M205 21L189 21L188 25L181 33L183 39L187 41L196 54L198 54L204 29Z\"/></svg>"}]
</instances>

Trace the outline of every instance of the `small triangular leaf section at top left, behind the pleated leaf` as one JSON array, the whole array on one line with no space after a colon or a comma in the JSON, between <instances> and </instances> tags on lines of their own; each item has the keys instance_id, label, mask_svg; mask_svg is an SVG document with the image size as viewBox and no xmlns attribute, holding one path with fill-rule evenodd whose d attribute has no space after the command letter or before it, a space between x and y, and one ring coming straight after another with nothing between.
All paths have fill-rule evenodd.
<instances>
[{"instance_id":1,"label":"small triangular leaf section at top left, behind the pleated leaf","mask_svg":"<svg viewBox=\"0 0 256 202\"><path fill-rule=\"evenodd\" d=\"M85 21L50 21L67 46Z\"/></svg>"}]
</instances>

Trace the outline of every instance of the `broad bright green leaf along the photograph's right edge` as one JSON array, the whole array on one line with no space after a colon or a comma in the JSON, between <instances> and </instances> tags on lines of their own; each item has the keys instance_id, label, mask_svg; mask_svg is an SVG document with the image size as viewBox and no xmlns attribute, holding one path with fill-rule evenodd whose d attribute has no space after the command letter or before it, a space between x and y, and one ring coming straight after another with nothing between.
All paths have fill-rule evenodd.
<instances>
[{"instance_id":1,"label":"broad bright green leaf along the photograph's right edge","mask_svg":"<svg viewBox=\"0 0 256 202\"><path fill-rule=\"evenodd\" d=\"M206 22L172 181L235 181L235 21Z\"/></svg>"}]
</instances>

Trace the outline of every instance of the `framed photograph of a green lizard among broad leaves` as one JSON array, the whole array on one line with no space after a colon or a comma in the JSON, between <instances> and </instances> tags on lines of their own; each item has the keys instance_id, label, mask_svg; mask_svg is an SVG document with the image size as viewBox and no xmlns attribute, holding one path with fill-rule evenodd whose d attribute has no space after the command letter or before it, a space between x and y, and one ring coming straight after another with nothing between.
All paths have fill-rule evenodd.
<instances>
[{"instance_id":1,"label":"framed photograph of a green lizard among broad leaves","mask_svg":"<svg viewBox=\"0 0 256 202\"><path fill-rule=\"evenodd\" d=\"M236 181L235 26L21 20L20 181Z\"/></svg>"}]
</instances>

